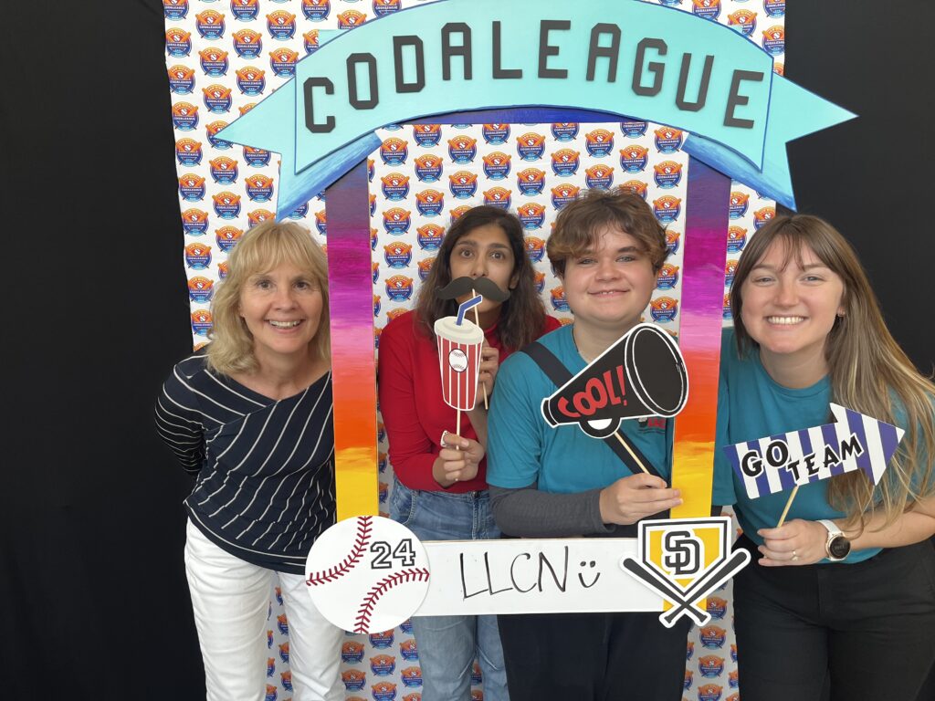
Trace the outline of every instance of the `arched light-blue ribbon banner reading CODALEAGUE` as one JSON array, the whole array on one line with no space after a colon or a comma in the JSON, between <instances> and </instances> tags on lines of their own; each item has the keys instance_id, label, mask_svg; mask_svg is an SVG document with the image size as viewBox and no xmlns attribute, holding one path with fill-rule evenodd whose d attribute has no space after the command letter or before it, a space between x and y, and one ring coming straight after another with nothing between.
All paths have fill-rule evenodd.
<instances>
[{"instance_id":1,"label":"arched light-blue ribbon banner reading CODALEAGUE","mask_svg":"<svg viewBox=\"0 0 935 701\"><path fill-rule=\"evenodd\" d=\"M218 137L281 153L281 217L375 150L385 124L519 106L678 127L684 150L793 208L786 143L855 116L773 74L739 32L672 7L439 0L335 37Z\"/></svg>"}]
</instances>

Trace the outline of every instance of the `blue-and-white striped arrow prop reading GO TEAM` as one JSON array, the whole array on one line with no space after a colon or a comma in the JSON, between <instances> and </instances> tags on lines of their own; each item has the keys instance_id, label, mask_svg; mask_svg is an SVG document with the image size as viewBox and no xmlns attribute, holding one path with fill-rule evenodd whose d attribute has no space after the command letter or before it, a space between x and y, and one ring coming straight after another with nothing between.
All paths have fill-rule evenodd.
<instances>
[{"instance_id":1,"label":"blue-and-white striped arrow prop reading GO TEAM","mask_svg":"<svg viewBox=\"0 0 935 701\"><path fill-rule=\"evenodd\" d=\"M834 423L724 448L751 499L853 470L879 483L906 432L837 404L831 413Z\"/></svg>"}]
</instances>

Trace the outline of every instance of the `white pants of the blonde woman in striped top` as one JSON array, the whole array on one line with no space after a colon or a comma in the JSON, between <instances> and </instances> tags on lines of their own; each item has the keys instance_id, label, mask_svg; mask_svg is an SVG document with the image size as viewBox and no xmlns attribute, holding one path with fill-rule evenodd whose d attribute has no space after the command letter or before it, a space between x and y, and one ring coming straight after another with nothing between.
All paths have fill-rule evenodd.
<instances>
[{"instance_id":1,"label":"white pants of the blonde woman in striped top","mask_svg":"<svg viewBox=\"0 0 935 701\"><path fill-rule=\"evenodd\" d=\"M190 521L185 572L205 661L208 701L263 701L266 615L279 574L289 619L289 666L295 701L343 701L340 647L344 631L324 619L305 578L251 565L218 548Z\"/></svg>"}]
</instances>

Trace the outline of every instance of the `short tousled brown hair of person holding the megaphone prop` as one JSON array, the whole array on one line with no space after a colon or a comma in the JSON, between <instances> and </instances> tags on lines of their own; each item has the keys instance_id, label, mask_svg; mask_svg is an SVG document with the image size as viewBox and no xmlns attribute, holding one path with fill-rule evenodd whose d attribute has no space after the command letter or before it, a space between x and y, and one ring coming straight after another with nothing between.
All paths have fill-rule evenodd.
<instances>
[{"instance_id":1,"label":"short tousled brown hair of person holding the megaphone prop","mask_svg":"<svg viewBox=\"0 0 935 701\"><path fill-rule=\"evenodd\" d=\"M545 248L555 273L564 276L568 258L597 247L597 229L608 224L637 239L649 255L654 272L659 271L669 255L666 230L639 194L618 188L588 190L558 213Z\"/></svg>"}]
</instances>

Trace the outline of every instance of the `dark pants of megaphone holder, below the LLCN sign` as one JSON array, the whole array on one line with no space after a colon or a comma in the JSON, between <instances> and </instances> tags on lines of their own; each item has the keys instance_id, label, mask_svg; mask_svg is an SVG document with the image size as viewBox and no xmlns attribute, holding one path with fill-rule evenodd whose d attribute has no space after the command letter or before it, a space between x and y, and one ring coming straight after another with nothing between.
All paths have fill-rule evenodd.
<instances>
[{"instance_id":1,"label":"dark pants of megaphone holder, below the LLCN sign","mask_svg":"<svg viewBox=\"0 0 935 701\"><path fill-rule=\"evenodd\" d=\"M511 701L682 698L684 618L672 628L658 613L518 614L497 622Z\"/></svg>"}]
</instances>

